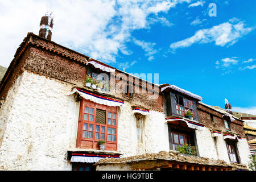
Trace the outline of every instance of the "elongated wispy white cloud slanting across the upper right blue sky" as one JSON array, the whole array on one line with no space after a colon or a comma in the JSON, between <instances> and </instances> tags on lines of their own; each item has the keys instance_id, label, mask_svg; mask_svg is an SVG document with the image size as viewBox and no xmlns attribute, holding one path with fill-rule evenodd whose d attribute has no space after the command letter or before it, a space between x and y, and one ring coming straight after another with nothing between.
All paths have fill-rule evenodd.
<instances>
[{"instance_id":1,"label":"elongated wispy white cloud slanting across the upper right blue sky","mask_svg":"<svg viewBox=\"0 0 256 182\"><path fill-rule=\"evenodd\" d=\"M214 42L216 46L232 46L238 41L238 39L252 30L252 27L245 28L245 24L242 21L237 24L225 22L217 26L213 26L212 28L199 30L190 38L172 43L170 48L177 49L189 47L195 43L207 44L212 42Z\"/></svg>"}]
</instances>

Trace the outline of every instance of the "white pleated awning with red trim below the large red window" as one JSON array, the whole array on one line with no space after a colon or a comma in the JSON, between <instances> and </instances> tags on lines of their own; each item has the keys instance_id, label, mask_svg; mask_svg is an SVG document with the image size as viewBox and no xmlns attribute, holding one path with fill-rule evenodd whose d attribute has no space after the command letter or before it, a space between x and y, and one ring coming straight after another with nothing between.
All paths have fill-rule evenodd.
<instances>
[{"instance_id":1,"label":"white pleated awning with red trim below the large red window","mask_svg":"<svg viewBox=\"0 0 256 182\"><path fill-rule=\"evenodd\" d=\"M97 163L104 158L119 158L119 155L101 155L101 154L72 154L71 162L76 163Z\"/></svg>"}]
</instances>

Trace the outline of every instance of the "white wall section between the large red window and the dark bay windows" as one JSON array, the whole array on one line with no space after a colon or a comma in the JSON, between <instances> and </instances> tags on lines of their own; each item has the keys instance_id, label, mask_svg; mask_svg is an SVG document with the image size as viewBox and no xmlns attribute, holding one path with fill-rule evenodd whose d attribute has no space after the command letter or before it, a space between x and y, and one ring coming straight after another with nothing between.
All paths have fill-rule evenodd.
<instances>
[{"instance_id":1,"label":"white wall section between the large red window and the dark bay windows","mask_svg":"<svg viewBox=\"0 0 256 182\"><path fill-rule=\"evenodd\" d=\"M129 102L125 102L118 109L118 151L123 156L138 155L142 152L137 150L136 119L131 111ZM164 114L159 111L150 110L150 114L145 117L142 133L145 146L143 154L169 150L168 127L164 121Z\"/></svg>"}]
</instances>

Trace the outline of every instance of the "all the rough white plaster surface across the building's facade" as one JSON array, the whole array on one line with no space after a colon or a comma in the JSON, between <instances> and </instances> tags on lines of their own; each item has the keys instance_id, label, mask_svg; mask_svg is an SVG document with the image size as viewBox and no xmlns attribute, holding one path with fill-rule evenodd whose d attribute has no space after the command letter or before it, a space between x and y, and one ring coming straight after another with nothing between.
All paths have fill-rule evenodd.
<instances>
[{"instance_id":1,"label":"all the rough white plaster surface across the building's facade","mask_svg":"<svg viewBox=\"0 0 256 182\"><path fill-rule=\"evenodd\" d=\"M76 148L80 102L68 96L72 85L34 73L23 72L10 88L0 109L0 169L71 170L67 151ZM118 152L122 157L169 151L165 115L150 110L144 119L143 146L138 151L137 126L129 102L118 109ZM223 137L217 150L209 129L195 131L200 156L225 160ZM246 139L237 143L241 162L250 154Z\"/></svg>"}]
</instances>

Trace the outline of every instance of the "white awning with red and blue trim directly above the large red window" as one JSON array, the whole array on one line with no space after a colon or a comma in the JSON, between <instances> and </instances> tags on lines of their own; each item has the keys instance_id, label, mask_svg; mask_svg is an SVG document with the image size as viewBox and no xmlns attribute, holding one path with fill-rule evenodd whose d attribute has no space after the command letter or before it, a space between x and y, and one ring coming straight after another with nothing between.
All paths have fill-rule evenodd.
<instances>
[{"instance_id":1,"label":"white awning with red and blue trim directly above the large red window","mask_svg":"<svg viewBox=\"0 0 256 182\"><path fill-rule=\"evenodd\" d=\"M123 101L115 100L113 98L108 98L104 96L99 96L97 94L86 92L85 90L81 90L79 88L73 89L73 91L69 93L69 95L76 92L79 93L79 95L85 98L86 100L96 102L97 104L102 104L106 106L121 106L124 103Z\"/></svg>"}]
</instances>

